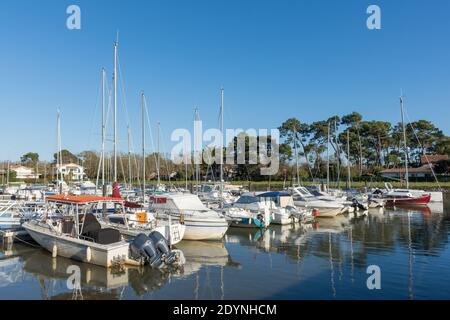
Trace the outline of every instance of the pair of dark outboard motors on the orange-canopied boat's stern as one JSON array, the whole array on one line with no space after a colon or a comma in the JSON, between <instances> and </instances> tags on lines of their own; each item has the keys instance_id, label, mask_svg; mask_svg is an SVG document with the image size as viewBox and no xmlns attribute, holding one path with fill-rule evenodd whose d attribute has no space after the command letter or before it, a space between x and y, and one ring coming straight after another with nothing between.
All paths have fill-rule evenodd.
<instances>
[{"instance_id":1,"label":"pair of dark outboard motors on the orange-canopied boat's stern","mask_svg":"<svg viewBox=\"0 0 450 320\"><path fill-rule=\"evenodd\" d=\"M157 231L148 236L144 233L137 235L130 244L130 250L133 258L155 268L173 265L179 258L178 251L171 251L166 238Z\"/></svg>"}]
</instances>

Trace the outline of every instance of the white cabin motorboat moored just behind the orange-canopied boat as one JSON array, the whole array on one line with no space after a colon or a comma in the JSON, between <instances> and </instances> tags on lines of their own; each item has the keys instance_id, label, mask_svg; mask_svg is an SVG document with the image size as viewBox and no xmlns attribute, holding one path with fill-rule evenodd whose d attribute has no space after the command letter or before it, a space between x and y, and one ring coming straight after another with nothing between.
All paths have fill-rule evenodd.
<instances>
[{"instance_id":1,"label":"white cabin motorboat moored just behind the orange-canopied boat","mask_svg":"<svg viewBox=\"0 0 450 320\"><path fill-rule=\"evenodd\" d=\"M229 227L229 221L222 213L206 207L194 194L153 195L149 210L158 220L184 222L186 240L220 240Z\"/></svg>"}]
</instances>

